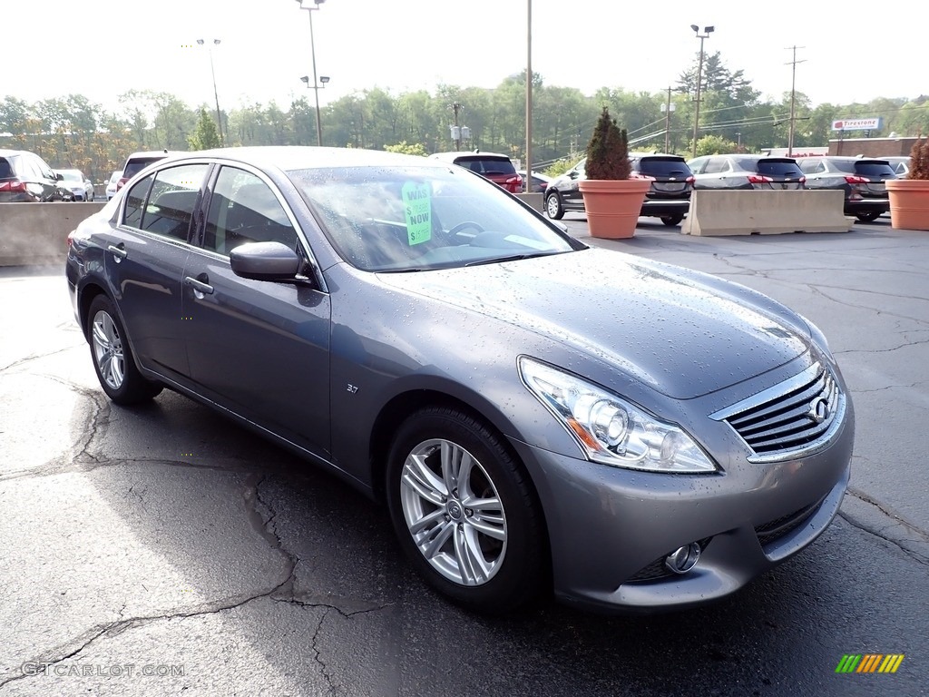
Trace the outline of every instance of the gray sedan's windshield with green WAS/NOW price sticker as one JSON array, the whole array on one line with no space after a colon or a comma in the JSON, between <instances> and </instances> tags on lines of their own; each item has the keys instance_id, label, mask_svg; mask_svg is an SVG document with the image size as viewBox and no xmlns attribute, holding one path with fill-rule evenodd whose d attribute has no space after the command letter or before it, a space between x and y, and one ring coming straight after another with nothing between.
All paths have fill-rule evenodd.
<instances>
[{"instance_id":1,"label":"gray sedan's windshield with green WAS/NOW price sticker","mask_svg":"<svg viewBox=\"0 0 929 697\"><path fill-rule=\"evenodd\" d=\"M584 246L503 190L451 168L347 167L288 174L339 254L361 270L448 269Z\"/></svg>"}]
</instances>

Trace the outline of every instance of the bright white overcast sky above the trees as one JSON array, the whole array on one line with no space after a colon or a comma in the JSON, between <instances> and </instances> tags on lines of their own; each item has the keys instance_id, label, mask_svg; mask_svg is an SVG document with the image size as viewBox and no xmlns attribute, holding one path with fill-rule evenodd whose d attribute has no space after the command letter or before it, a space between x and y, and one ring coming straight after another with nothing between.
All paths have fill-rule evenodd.
<instances>
[{"instance_id":1,"label":"bright white overcast sky above the trees","mask_svg":"<svg viewBox=\"0 0 929 697\"><path fill-rule=\"evenodd\" d=\"M700 52L691 24L714 27L705 53L719 51L763 98L790 92L792 46L796 89L814 105L929 92L918 77L924 23L860 0L324 0L312 12L298 2L3 0L0 99L80 94L115 111L120 94L148 89L215 107L212 53L223 110L312 103L300 81L312 80L310 15L317 74L331 78L319 90L321 105L373 87L394 95L441 84L494 87L526 69L530 2L532 71L545 85L585 95L676 84Z\"/></svg>"}]
</instances>

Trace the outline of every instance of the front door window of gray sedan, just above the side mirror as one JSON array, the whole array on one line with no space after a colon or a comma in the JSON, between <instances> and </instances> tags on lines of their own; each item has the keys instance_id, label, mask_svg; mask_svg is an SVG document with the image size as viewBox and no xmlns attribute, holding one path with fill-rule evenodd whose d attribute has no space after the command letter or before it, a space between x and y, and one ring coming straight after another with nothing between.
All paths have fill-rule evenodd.
<instances>
[{"instance_id":1,"label":"front door window of gray sedan, just above the side mirror","mask_svg":"<svg viewBox=\"0 0 929 697\"><path fill-rule=\"evenodd\" d=\"M249 242L280 242L300 253L296 230L268 184L251 172L223 167L210 198L203 247L228 255Z\"/></svg>"}]
</instances>

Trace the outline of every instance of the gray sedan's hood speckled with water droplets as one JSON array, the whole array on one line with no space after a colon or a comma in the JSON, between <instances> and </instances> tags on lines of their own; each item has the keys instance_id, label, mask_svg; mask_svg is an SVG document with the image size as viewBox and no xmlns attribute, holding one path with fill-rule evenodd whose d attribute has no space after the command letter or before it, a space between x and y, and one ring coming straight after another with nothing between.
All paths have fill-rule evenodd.
<instances>
[{"instance_id":1,"label":"gray sedan's hood speckled with water droplets","mask_svg":"<svg viewBox=\"0 0 929 697\"><path fill-rule=\"evenodd\" d=\"M610 250L379 276L398 290L548 337L580 362L605 362L676 399L761 375L811 342L803 319L766 296Z\"/></svg>"}]
</instances>

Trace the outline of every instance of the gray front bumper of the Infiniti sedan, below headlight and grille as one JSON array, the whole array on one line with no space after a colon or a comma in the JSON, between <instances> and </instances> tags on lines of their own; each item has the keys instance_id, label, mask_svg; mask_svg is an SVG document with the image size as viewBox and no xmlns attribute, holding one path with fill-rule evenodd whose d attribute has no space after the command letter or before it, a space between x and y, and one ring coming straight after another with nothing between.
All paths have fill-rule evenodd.
<instances>
[{"instance_id":1,"label":"gray front bumper of the Infiniti sedan, below headlight and grille","mask_svg":"<svg viewBox=\"0 0 929 697\"><path fill-rule=\"evenodd\" d=\"M716 475L635 472L514 445L542 500L556 597L596 612L657 612L724 598L812 543L842 503L853 440L849 403L828 449ZM691 571L663 568L698 541Z\"/></svg>"}]
</instances>

